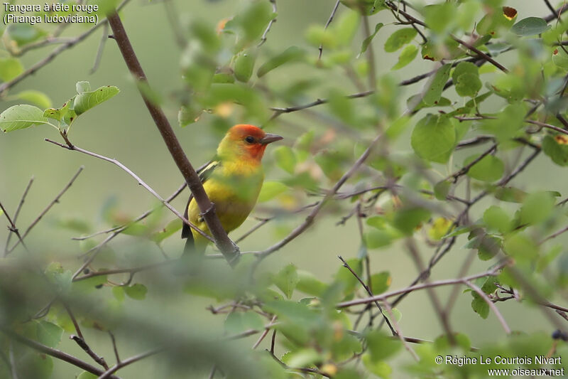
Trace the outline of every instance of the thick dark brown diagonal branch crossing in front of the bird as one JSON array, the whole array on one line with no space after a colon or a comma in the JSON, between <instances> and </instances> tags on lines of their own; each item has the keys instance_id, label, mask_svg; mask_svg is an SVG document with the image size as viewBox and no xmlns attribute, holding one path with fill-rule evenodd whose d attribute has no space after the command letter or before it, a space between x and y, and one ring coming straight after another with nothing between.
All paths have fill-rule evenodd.
<instances>
[{"instance_id":1,"label":"thick dark brown diagonal branch crossing in front of the bird","mask_svg":"<svg viewBox=\"0 0 568 379\"><path fill-rule=\"evenodd\" d=\"M119 15L114 13L109 16L108 19L114 33L114 39L119 46L126 66L129 68L137 82L148 85L146 74L138 62L136 53L134 53ZM226 231L223 229L221 222L215 213L214 204L209 201L207 193L205 193L205 190L203 189L200 177L195 172L195 169L193 169L193 166L190 164L187 156L185 156L182 146L180 145L178 138L175 137L173 129L170 126L170 122L168 122L168 119L165 117L163 110L158 105L155 105L150 98L148 98L146 91L143 91L140 86L138 86L138 91L140 92L156 127L158 127L166 146L168 146L168 150L170 151L175 164L177 164L178 169L180 169L181 174L185 178L187 186L190 188L190 191L201 210L203 219L207 224L207 228L209 228L213 235L215 244L219 247L219 250L221 250L227 262L229 262L230 265L236 265L240 255L239 247L231 241L229 236L226 234Z\"/></svg>"}]
</instances>

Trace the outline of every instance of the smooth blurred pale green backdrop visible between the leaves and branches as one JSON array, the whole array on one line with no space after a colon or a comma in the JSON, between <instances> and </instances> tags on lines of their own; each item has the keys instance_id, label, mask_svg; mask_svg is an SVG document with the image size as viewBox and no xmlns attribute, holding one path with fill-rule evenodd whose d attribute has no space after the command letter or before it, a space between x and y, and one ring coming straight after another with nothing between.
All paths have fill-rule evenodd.
<instances>
[{"instance_id":1,"label":"smooth blurred pale green backdrop visible between the leaves and branches","mask_svg":"<svg viewBox=\"0 0 568 379\"><path fill-rule=\"evenodd\" d=\"M182 23L189 23L196 18L217 23L222 18L234 14L234 11L244 2L228 0L174 1ZM518 9L519 19L529 14L544 16L549 13L541 1L525 1L520 4L515 1L514 3L510 5ZM283 46L308 46L305 42L306 29L312 24L324 24L333 5L334 1L332 0L278 1L278 21L273 25L263 49L274 51L281 50ZM343 7L339 9L339 13L342 11L344 11ZM133 48L136 50L144 70L146 70L146 75L153 89L163 97L163 108L173 124L182 146L184 146L187 156L194 166L200 166L214 153L220 134L209 125L207 116L183 129L178 127L178 106L170 99L172 98L172 91L178 88L180 82L179 62L181 52L175 44L163 4L160 1L135 0L126 7L121 16ZM391 23L391 20L390 14L381 12L371 18L371 25L378 21ZM392 27L386 26L386 28ZM77 33L82 33L85 28L86 26L81 25L72 26L67 29L65 35L75 36ZM386 29L384 30L386 31ZM121 90L119 95L97 107L96 110L84 114L75 124L72 142L84 149L118 159L165 198L180 186L182 177L168 154L146 107L144 107L114 41L107 41L99 69L96 73L89 74L99 45L100 35L101 32L97 31L87 41L65 51L55 58L53 63L46 65L38 73L18 84L15 90L43 89L53 100L54 105L58 106L75 93L75 82L77 81L88 80L93 87L101 85L118 86ZM388 33L379 32L373 41L373 45L382 46L386 36L388 36ZM361 38L356 38L355 43L360 43L360 40ZM26 54L23 63L28 67L43 58L52 48L42 48ZM377 48L376 50L381 51L382 49ZM317 49L313 49L312 53L317 55ZM388 72L395 64L397 57L398 55L395 53L377 53L376 69L378 73ZM506 60L507 58L504 56L503 63L506 63ZM395 75L403 80L434 67L435 64L430 61L417 59L405 70L397 71ZM305 70L304 73L296 67L280 70L276 75L273 75L271 80L275 83L284 83L288 80L287 75L295 75L295 78L302 75L306 77L315 76L327 80L333 85L343 83L346 92L356 92L356 89L344 78L344 75L337 70ZM421 82L411 87L405 87L403 90L410 95L417 92L422 85ZM351 89L347 89L349 86L351 86ZM315 100L317 97L324 97L326 93L307 93L305 100ZM403 96L403 98L405 97ZM13 104L15 102L1 102L1 110ZM274 105L281 106L283 104ZM293 137L292 140L297 137L298 133L285 123L287 119L302 124L306 129L315 129L316 135L322 135L326 131L324 124L314 122L310 117L303 116L301 112L283 114L280 119L283 121L271 125L269 131L283 135L285 138L291 136ZM241 121L247 122L246 119ZM60 220L75 218L87 220L88 223L92 224L94 230L99 230L109 226L102 220L102 207L112 199L116 202L119 212L123 213L125 217L136 216L151 208L155 205L155 199L141 186L138 186L133 178L116 166L48 144L44 142L45 138L60 141L58 134L46 126L0 135L0 200L13 213L23 188L26 187L29 178L34 177L31 192L18 219L20 228L25 228L65 186L65 183L77 171L78 167L84 166L84 172L77 178L70 191L65 193L60 203L55 205L45 220L26 238L28 246L36 254L53 257L66 267L78 267L80 261L76 259L76 256L80 251L79 243L70 240L70 237L77 236L77 233L59 228ZM282 171L273 165L271 147L268 148L265 159L266 176L267 179L278 180ZM408 138L403 138L399 146L393 146L391 149L410 151L410 142ZM456 159L456 161L458 160ZM451 169L454 166L457 167L457 164L452 165L449 171L452 171ZM563 196L566 194L564 171L559 166L551 165L545 156L540 156L535 164L532 164L524 174L515 179L515 185L526 191L547 189L559 191ZM186 199L187 193L173 201L173 205L182 211ZM310 201L310 198L307 198L307 201ZM489 200L484 203L484 205L489 204ZM484 208L484 206L479 207L479 209ZM344 206L344 210L347 212L349 207ZM479 217L479 215L474 215L472 218L475 216ZM293 262L297 267L310 270L326 282L340 267L337 255L356 257L359 249L359 238L349 237L357 235L355 220L351 219L346 225L337 226L336 223L340 217L339 214L322 213L314 227L268 258L263 263L263 267L276 270L288 262ZM168 214L167 218L173 219L173 216ZM289 227L300 223L302 220L302 215L298 215L293 220L286 221L285 224ZM254 223L256 223L255 220L248 220L231 235L240 236ZM6 228L1 228L0 245L4 245L6 236ZM262 250L278 240L278 237L281 237L281 233L278 232L277 228L274 225L267 225L262 232L256 233L253 237L249 237L241 243L241 250ZM464 238L460 238L457 246L461 247L464 243ZM137 244L138 242L135 242L133 238L122 236L111 242L111 247L117 252L128 253L129 257L133 257L140 250L152 249L152 247ZM182 251L182 245L182 240L176 234L175 237L171 237L165 243L164 249L170 257L177 257ZM421 250L425 259L430 257L432 252L430 247L422 246ZM19 249L14 254L22 254L22 252ZM159 254L159 252L154 249L151 254ZM457 267L463 262L467 254L468 250L462 248L452 250L451 254L435 267L432 272L432 279L455 277ZM395 244L386 250L371 251L371 262L375 271L391 272L393 278L391 289L407 286L417 273L412 260L400 244ZM470 272L481 272L484 269L486 269L486 264L478 261L471 267ZM140 275L137 279L142 282L144 280L151 282L152 277ZM165 294L160 292L159 288L152 287L151 284L148 289L148 296L156 301L153 310L156 314L151 314L152 317L160 318L163 321L168 320L178 326L185 324L195 327L197 325L204 331L217 331L223 322L223 316L212 316L205 309L205 306L212 302L209 299L181 293ZM442 299L446 299L450 289L444 287L436 291ZM459 296L457 306L454 307L451 316L454 329L471 336L474 346L486 341L494 341L498 336L504 335L495 316L490 314L488 321L484 321L471 311L470 301L469 294ZM131 309L136 309L138 306L136 301L131 299L126 299L126 302L127 306L132 307ZM499 304L499 309L503 312L503 316L508 320L512 329L549 332L548 326L541 322L542 316L539 311L536 309L527 311L525 309L523 313L519 313L519 306L520 304L515 301ZM403 314L400 326L405 335L433 339L442 333L439 321L425 292L410 294L398 306L398 309ZM148 311L148 309L144 311ZM117 336L117 338L121 354L124 357L144 350L142 346L138 346L136 343L129 344L126 338L123 340L120 336ZM97 345L97 351L111 360L111 345L106 333L89 330L87 331L87 340L94 342ZM255 340L256 337L254 336L249 338L244 346L251 346L251 343ZM75 343L67 341L65 338L61 348L64 351L77 354L80 358L88 359ZM120 374L123 378L165 378L163 373L167 365L168 363L165 363L160 356L155 356L133 365L131 368L121 370ZM77 372L77 369L70 365L56 363L53 378L72 378L72 375ZM179 374L172 374L171 378L204 378L206 374L195 372L180 376L175 375ZM397 374L396 377L401 378L403 374Z\"/></svg>"}]
</instances>

